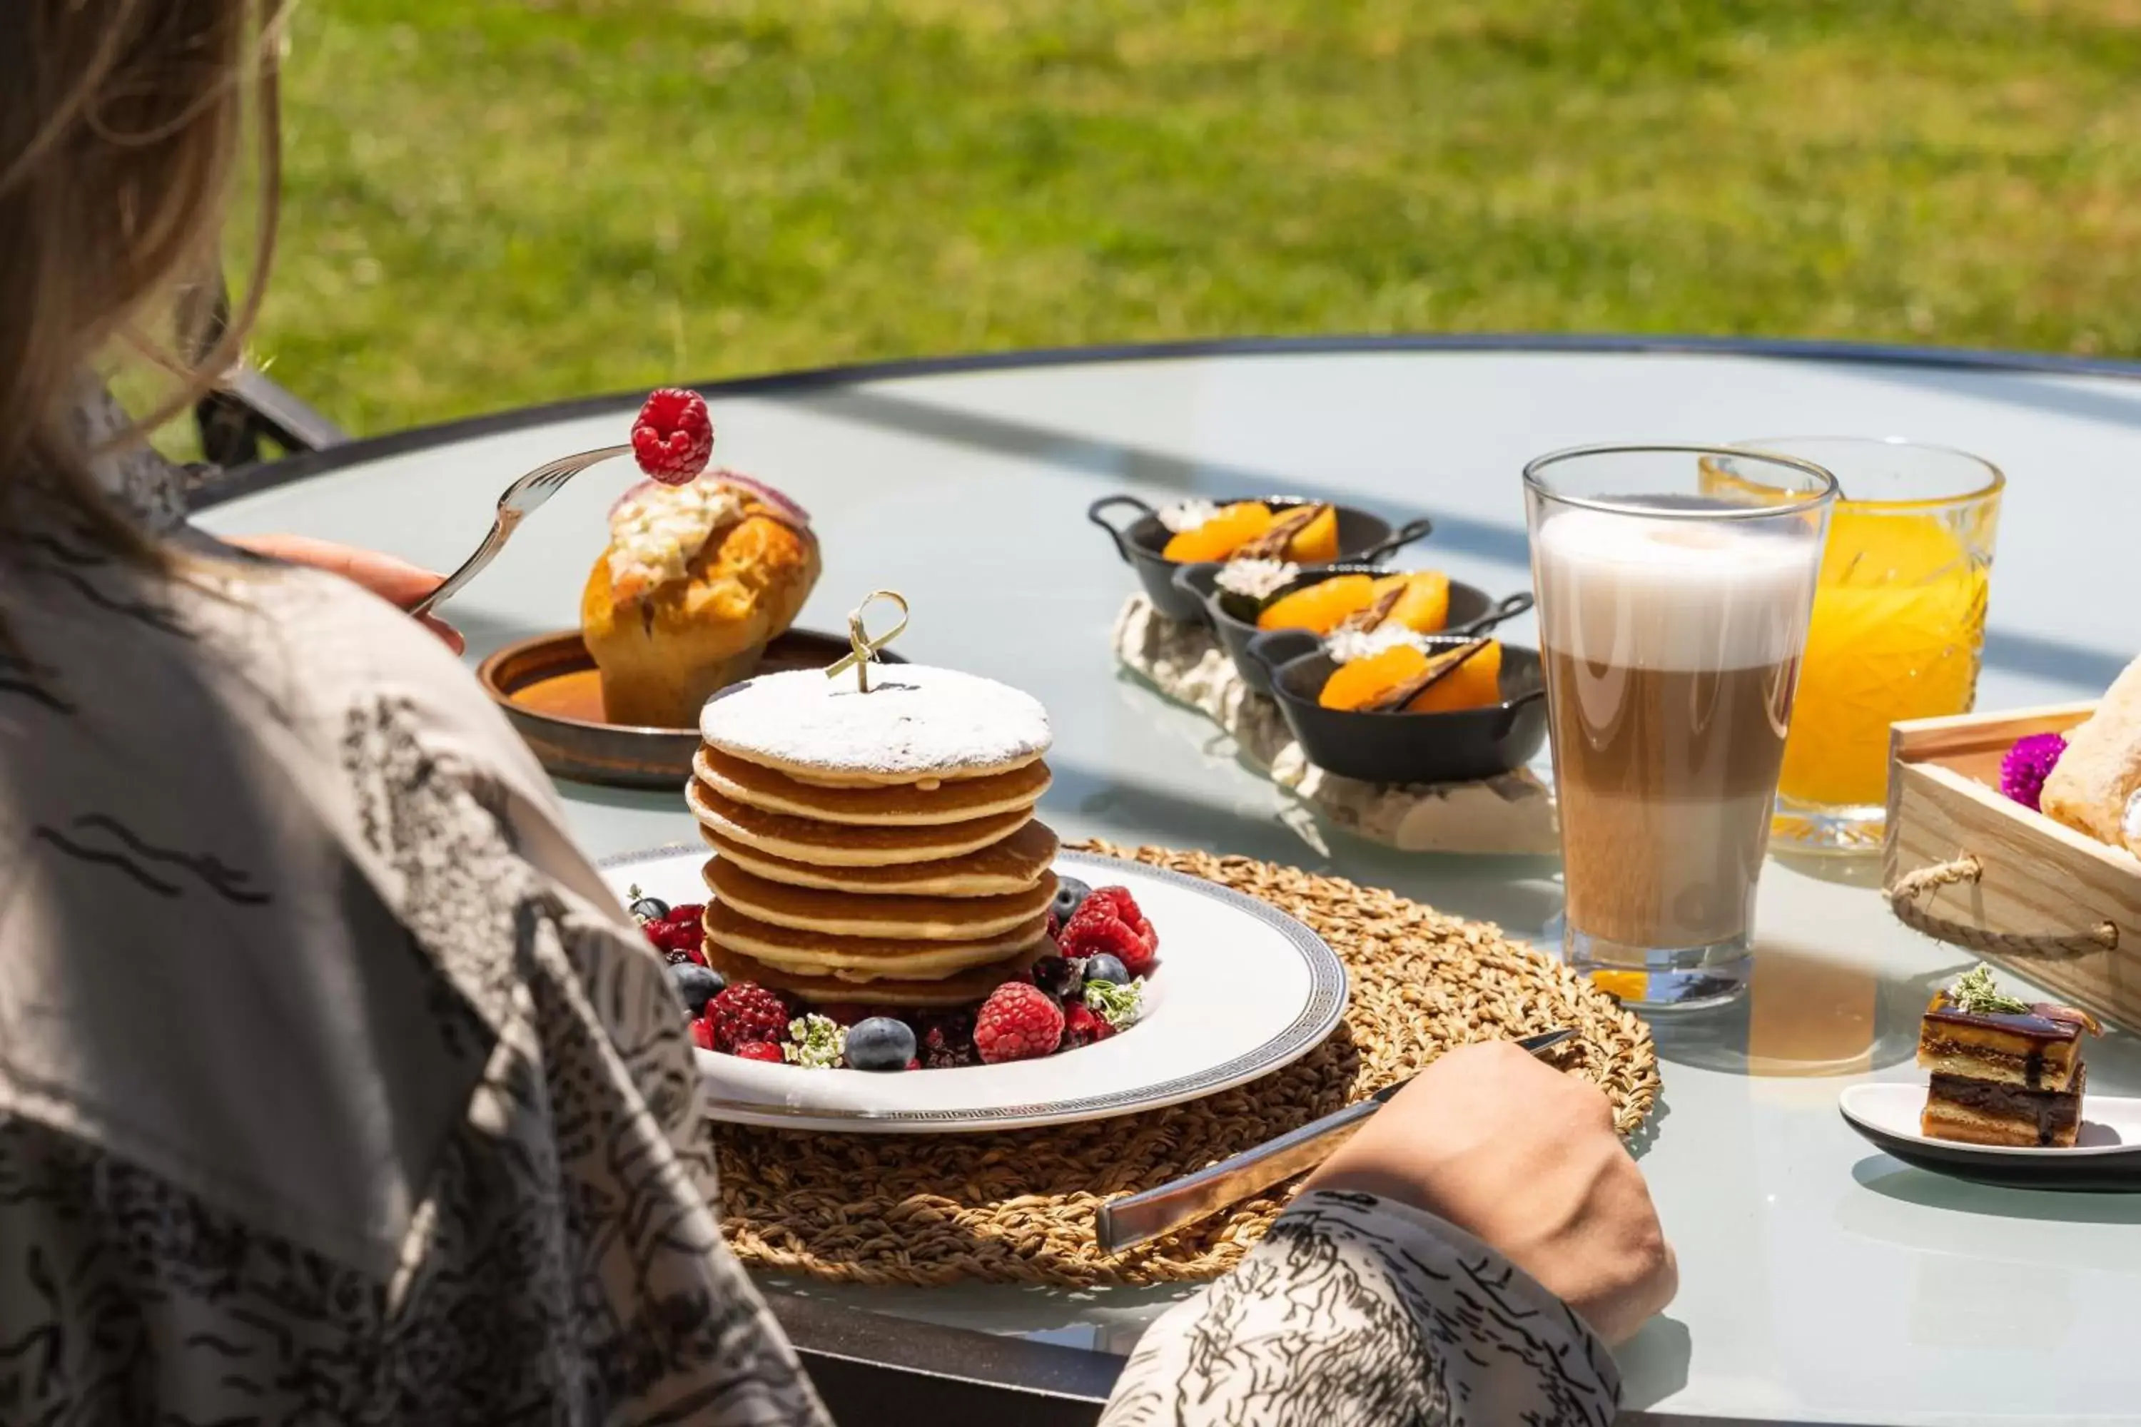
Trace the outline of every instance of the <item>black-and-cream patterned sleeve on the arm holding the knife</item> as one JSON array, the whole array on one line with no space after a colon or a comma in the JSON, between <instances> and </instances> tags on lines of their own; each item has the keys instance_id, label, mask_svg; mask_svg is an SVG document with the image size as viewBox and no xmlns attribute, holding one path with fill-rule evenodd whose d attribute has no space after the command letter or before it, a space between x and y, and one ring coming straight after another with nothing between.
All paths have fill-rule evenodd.
<instances>
[{"instance_id":1,"label":"black-and-cream patterned sleeve on the arm holding the knife","mask_svg":"<svg viewBox=\"0 0 2141 1427\"><path fill-rule=\"evenodd\" d=\"M1621 1378L1490 1247L1368 1194L1304 1194L1130 1356L1103 1427L1604 1427Z\"/></svg>"}]
</instances>

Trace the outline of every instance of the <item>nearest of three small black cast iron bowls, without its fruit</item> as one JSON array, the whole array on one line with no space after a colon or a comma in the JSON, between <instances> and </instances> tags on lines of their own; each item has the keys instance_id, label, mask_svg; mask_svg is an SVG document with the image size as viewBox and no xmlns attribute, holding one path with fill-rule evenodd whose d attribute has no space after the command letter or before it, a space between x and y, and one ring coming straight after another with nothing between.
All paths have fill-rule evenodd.
<instances>
[{"instance_id":1,"label":"nearest of three small black cast iron bowls, without its fruit","mask_svg":"<svg viewBox=\"0 0 2141 1427\"><path fill-rule=\"evenodd\" d=\"M1434 646L1467 635L1428 635ZM1248 657L1270 670L1272 697L1308 762L1362 783L1467 783L1522 768L1546 747L1546 676L1539 653L1501 646L1501 704L1449 712L1355 712L1317 695L1338 668L1306 629L1265 629Z\"/></svg>"}]
</instances>

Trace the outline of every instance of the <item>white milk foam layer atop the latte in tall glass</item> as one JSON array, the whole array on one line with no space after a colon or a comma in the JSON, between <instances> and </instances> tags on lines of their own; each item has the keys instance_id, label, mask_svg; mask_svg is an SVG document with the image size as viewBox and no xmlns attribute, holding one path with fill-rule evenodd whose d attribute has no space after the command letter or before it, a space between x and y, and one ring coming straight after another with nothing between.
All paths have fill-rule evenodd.
<instances>
[{"instance_id":1,"label":"white milk foam layer atop the latte in tall glass","mask_svg":"<svg viewBox=\"0 0 2141 1427\"><path fill-rule=\"evenodd\" d=\"M1820 546L1730 520L1561 509L1531 543L1548 648L1640 670L1749 670L1798 653Z\"/></svg>"}]
</instances>

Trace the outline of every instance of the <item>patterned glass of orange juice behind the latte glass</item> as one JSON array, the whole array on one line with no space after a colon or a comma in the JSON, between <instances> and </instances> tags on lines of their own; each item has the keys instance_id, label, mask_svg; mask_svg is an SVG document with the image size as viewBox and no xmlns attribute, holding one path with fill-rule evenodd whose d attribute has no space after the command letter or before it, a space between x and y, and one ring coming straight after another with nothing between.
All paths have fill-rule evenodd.
<instances>
[{"instance_id":1,"label":"patterned glass of orange juice behind the latte glass","mask_svg":"<svg viewBox=\"0 0 2141 1427\"><path fill-rule=\"evenodd\" d=\"M1775 436L1732 445L1811 460L1839 486L1771 845L1878 851L1888 725L1970 712L1976 700L2006 477L1968 451L1901 439ZM1762 466L1713 456L1704 484L1745 494L1762 486Z\"/></svg>"}]
</instances>

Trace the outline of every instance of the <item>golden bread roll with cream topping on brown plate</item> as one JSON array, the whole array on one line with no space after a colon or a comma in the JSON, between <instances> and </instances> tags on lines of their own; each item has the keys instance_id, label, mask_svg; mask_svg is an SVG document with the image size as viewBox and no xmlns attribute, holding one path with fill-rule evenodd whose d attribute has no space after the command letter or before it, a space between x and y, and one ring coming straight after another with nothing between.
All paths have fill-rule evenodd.
<instances>
[{"instance_id":1,"label":"golden bread roll with cream topping on brown plate","mask_svg":"<svg viewBox=\"0 0 2141 1427\"><path fill-rule=\"evenodd\" d=\"M758 670L818 584L807 524L719 486L719 473L700 484L717 490L625 496L587 578L580 633L610 723L696 727L700 706Z\"/></svg>"}]
</instances>

